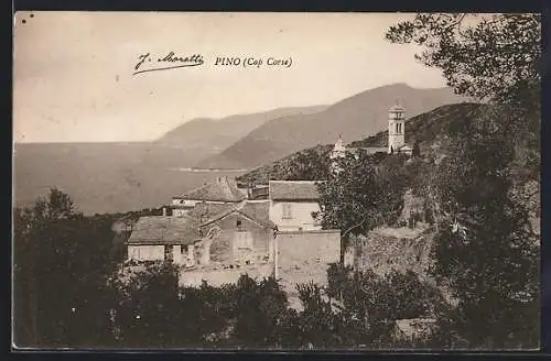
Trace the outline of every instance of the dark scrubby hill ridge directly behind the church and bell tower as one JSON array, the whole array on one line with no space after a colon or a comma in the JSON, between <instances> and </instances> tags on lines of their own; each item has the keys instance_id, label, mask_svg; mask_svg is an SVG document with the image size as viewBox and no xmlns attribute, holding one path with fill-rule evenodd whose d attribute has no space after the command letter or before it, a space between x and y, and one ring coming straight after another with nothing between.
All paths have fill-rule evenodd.
<instances>
[{"instance_id":1,"label":"dark scrubby hill ridge directly behind the church and bell tower","mask_svg":"<svg viewBox=\"0 0 551 361\"><path fill-rule=\"evenodd\" d=\"M435 142L445 139L461 123L475 119L476 112L484 107L479 103L466 102L457 105L442 106L429 112L410 118L406 122L406 141L414 143L419 141L421 152L428 150ZM352 142L350 146L387 146L388 131L381 131L364 140ZM316 154L322 161L328 161L333 144L317 145L313 149L303 150L290 154L276 162L271 162L248 172L239 177L238 182L266 184L268 178L289 179L291 175L295 176L295 160L302 154ZM313 152L312 152L313 151ZM315 163L312 163L315 164Z\"/></svg>"}]
</instances>

